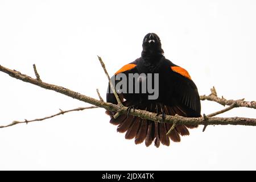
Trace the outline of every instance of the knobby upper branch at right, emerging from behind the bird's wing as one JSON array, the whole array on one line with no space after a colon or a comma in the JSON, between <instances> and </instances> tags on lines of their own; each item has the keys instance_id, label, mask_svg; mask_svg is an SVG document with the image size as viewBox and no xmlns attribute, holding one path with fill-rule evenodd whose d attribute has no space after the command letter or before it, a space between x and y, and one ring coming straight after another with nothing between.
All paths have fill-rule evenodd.
<instances>
[{"instance_id":1,"label":"knobby upper branch at right, emerging from behind the bird's wing","mask_svg":"<svg viewBox=\"0 0 256 182\"><path fill-rule=\"evenodd\" d=\"M204 100L208 100L208 101L214 101L214 102L217 102L218 104L221 104L223 106L225 105L232 105L234 103L236 103L236 105L238 107L250 107L250 108L253 108L253 109L256 109L256 102L255 101L251 101L251 102L248 102L248 101L244 101L243 99L242 100L226 100L223 96L222 98L220 97L217 97L217 93L216 93L216 90L215 88L213 87L211 89L211 94L209 94L209 96L200 96L200 100L204 101Z\"/></svg>"}]
</instances>

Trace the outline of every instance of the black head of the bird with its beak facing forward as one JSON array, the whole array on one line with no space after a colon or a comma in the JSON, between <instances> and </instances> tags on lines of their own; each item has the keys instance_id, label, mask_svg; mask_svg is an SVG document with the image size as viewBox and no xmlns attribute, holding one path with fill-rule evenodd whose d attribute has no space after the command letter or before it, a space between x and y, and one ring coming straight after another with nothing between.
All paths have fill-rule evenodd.
<instances>
[{"instance_id":1,"label":"black head of the bird with its beak facing forward","mask_svg":"<svg viewBox=\"0 0 256 182\"><path fill-rule=\"evenodd\" d=\"M144 52L150 54L164 53L160 38L155 33L148 33L144 36L142 47Z\"/></svg>"}]
</instances>

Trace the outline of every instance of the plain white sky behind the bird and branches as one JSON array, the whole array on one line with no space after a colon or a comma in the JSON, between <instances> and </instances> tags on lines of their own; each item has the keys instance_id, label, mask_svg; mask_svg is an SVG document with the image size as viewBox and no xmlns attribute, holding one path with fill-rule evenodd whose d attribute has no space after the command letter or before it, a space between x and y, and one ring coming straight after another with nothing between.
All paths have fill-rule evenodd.
<instances>
[{"instance_id":1,"label":"plain white sky behind the bird and branches","mask_svg":"<svg viewBox=\"0 0 256 182\"><path fill-rule=\"evenodd\" d=\"M187 69L200 94L255 100L255 1L0 1L0 64L105 98L111 75L141 55L155 32L167 59ZM0 72L0 125L88 106ZM223 108L202 101L202 114ZM237 108L221 117L256 118ZM170 147L125 140L104 109L0 130L0 169L256 169L256 129L203 126Z\"/></svg>"}]
</instances>

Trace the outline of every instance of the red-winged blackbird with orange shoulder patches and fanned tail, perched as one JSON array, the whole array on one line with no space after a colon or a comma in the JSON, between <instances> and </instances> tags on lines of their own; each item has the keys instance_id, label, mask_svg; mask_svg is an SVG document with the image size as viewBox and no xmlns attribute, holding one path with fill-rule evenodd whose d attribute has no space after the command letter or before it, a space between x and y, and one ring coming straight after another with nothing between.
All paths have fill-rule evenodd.
<instances>
[{"instance_id":1,"label":"red-winged blackbird with orange shoulder patches and fanned tail, perched","mask_svg":"<svg viewBox=\"0 0 256 182\"><path fill-rule=\"evenodd\" d=\"M129 77L129 73L145 73L146 76L144 74L144 77L146 80L151 81L151 85L154 85L158 81L158 85L156 84L158 88L154 88L158 89L158 97L155 100L150 100L148 96L152 95L152 92L142 93L141 89L139 93L119 93L123 105L129 107L129 109L135 108L163 114L163 118L164 114L200 117L201 104L195 83L191 80L185 69L175 65L164 57L164 51L158 35L154 33L147 34L143 39L142 47L141 57L119 69L112 77L112 80L114 79L115 85L117 85L119 80L116 76L120 73L123 73L127 77ZM147 73L158 73L159 80L154 81L152 78L148 79ZM130 79L127 78L127 80ZM141 84L142 80L143 77L139 77L137 80L136 78L135 80L132 78L133 84L130 86L132 89L129 91L134 91L136 81ZM128 84L127 87L129 87ZM106 100L107 102L117 104L114 94L110 93L110 88L108 88ZM135 138L135 144L142 143L145 140L146 146L150 146L153 141L156 147L159 147L160 142L169 146L169 138L174 142L180 142L180 135L189 135L187 128L197 127L177 125L169 135L166 135L172 126L170 123L153 122L127 114L120 115L114 119L113 115L115 113L110 111L107 111L107 113L111 117L110 123L118 125L117 131L121 133L126 132L126 139Z\"/></svg>"}]
</instances>

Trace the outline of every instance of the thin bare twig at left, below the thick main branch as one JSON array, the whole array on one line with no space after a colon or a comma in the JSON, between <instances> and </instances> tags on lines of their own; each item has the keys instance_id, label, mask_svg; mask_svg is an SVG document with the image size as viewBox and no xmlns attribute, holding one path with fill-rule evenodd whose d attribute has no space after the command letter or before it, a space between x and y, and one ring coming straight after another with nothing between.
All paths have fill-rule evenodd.
<instances>
[{"instance_id":1,"label":"thin bare twig at left, below the thick main branch","mask_svg":"<svg viewBox=\"0 0 256 182\"><path fill-rule=\"evenodd\" d=\"M76 108L76 109L65 110L65 111L63 111L63 110L60 109L60 112L59 112L59 113L50 115L50 116L48 116L48 117L39 118L39 119L32 119L32 120L27 120L27 119L25 119L25 121L13 121L13 122L10 123L9 125L0 126L0 128L13 126L13 125L17 125L17 124L20 124L20 123L30 123L30 122L35 122L35 121L43 121L43 120L45 120L45 119L49 119L49 118L56 117L57 115L69 113L69 112L71 112L71 111L80 111L80 110L94 109L94 108L99 108L99 107L97 107L97 106L78 107L78 108Z\"/></svg>"}]
</instances>

